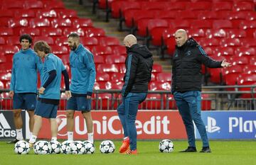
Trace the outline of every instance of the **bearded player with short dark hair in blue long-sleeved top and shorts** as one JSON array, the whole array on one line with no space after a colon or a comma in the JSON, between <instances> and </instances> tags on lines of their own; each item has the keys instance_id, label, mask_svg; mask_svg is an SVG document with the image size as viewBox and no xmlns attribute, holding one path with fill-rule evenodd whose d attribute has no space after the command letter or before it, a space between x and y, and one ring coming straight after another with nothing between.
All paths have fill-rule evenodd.
<instances>
[{"instance_id":1,"label":"bearded player with short dark hair in blue long-sleeved top and shorts","mask_svg":"<svg viewBox=\"0 0 256 165\"><path fill-rule=\"evenodd\" d=\"M92 89L95 84L95 62L92 53L80 44L80 37L76 33L68 35L70 47L70 68L72 97L66 107L68 140L73 140L74 113L78 110L85 118L87 128L87 140L93 140L93 123L91 115Z\"/></svg>"}]
</instances>

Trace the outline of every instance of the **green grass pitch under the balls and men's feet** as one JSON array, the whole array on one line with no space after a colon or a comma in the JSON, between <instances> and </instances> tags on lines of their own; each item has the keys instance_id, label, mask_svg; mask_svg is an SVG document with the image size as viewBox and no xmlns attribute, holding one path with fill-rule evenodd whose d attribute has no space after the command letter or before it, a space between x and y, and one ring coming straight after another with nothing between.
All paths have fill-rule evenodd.
<instances>
[{"instance_id":1,"label":"green grass pitch under the balls and men's feet","mask_svg":"<svg viewBox=\"0 0 256 165\"><path fill-rule=\"evenodd\" d=\"M0 142L0 165L236 165L256 164L256 144L255 141L210 141L212 153L180 153L186 149L186 141L174 141L174 152L160 153L158 150L159 141L139 141L138 155L119 154L118 149L121 141L114 141L116 151L114 154L101 154L99 151L100 142L95 142L96 151L92 155L65 155L65 154L49 154L36 155L30 152L27 155L18 155L14 153L14 144L6 144ZM201 142L197 142L198 150L201 149Z\"/></svg>"}]
</instances>

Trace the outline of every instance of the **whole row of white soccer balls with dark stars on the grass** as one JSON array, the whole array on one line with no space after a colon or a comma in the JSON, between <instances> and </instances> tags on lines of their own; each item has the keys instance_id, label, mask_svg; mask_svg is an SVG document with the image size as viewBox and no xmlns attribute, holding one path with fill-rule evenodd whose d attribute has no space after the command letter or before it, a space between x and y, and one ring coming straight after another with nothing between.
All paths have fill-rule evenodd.
<instances>
[{"instance_id":1,"label":"whole row of white soccer balls with dark stars on the grass","mask_svg":"<svg viewBox=\"0 0 256 165\"><path fill-rule=\"evenodd\" d=\"M114 143L111 140L105 140L100 143L100 152L109 154L115 149ZM171 140L162 140L159 143L160 152L173 152L174 143ZM16 154L28 154L30 152L29 143L26 141L18 141L14 146ZM58 141L38 141L33 145L35 154L93 154L95 145L90 141L64 141L60 144Z\"/></svg>"}]
</instances>

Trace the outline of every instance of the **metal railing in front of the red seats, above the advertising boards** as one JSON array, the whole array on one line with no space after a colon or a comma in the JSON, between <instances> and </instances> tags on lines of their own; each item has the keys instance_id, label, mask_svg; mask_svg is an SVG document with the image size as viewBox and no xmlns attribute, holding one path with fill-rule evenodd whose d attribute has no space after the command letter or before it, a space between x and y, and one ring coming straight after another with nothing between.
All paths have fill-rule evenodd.
<instances>
[{"instance_id":1,"label":"metal railing in front of the red seats, above the advertising boards","mask_svg":"<svg viewBox=\"0 0 256 165\"><path fill-rule=\"evenodd\" d=\"M256 86L203 86L202 110L256 110ZM241 91L242 90L242 91ZM0 109L11 110L12 99L1 90ZM120 90L95 90L93 110L115 110L122 103ZM65 110L66 99L60 99L59 110ZM141 110L177 109L171 91L149 91L148 98L139 105Z\"/></svg>"}]
</instances>

